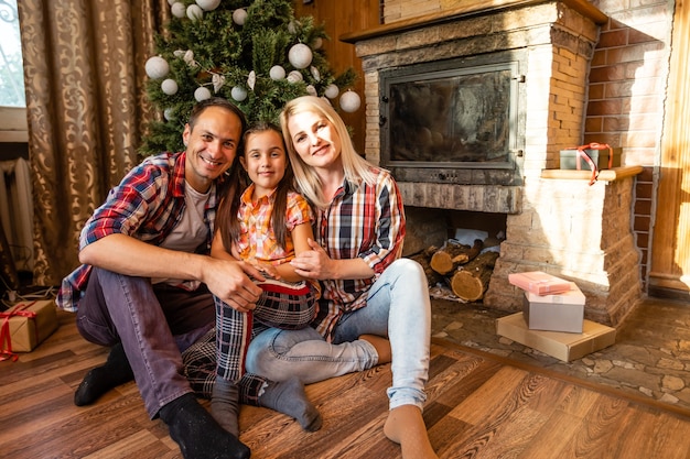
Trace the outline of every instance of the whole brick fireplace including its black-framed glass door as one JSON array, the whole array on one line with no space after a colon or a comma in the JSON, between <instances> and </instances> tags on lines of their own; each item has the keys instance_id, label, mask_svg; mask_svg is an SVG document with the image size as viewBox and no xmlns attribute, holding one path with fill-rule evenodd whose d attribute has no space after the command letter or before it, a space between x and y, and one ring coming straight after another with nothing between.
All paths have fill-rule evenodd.
<instances>
[{"instance_id":1,"label":"whole brick fireplace including its black-framed glass door","mask_svg":"<svg viewBox=\"0 0 690 459\"><path fill-rule=\"evenodd\" d=\"M642 296L635 175L589 186L545 174L582 143L607 18L585 0L459 3L341 36L362 58L366 157L392 171L403 196L406 252L442 242L451 229L432 226L450 212L498 215L505 240L487 306L518 310L508 274L545 271L578 283L586 318L616 325Z\"/></svg>"}]
</instances>

